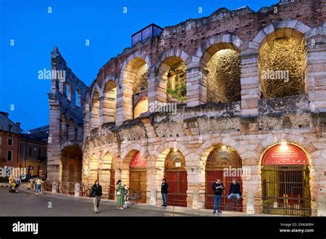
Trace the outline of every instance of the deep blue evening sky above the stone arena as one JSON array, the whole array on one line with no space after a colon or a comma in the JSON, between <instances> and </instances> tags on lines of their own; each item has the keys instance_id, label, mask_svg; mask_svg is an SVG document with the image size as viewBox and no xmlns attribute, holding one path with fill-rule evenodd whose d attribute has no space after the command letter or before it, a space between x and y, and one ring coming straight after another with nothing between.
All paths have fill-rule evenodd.
<instances>
[{"instance_id":1,"label":"deep blue evening sky above the stone arena","mask_svg":"<svg viewBox=\"0 0 326 239\"><path fill-rule=\"evenodd\" d=\"M0 0L0 111L28 130L49 124L50 69L57 46L76 76L89 85L109 58L131 45L131 34L209 16L218 8L259 10L278 0ZM52 8L52 14L47 8ZM127 14L123 8L127 7ZM202 7L202 14L198 8ZM85 46L89 39L90 45ZM14 40L14 46L10 41Z\"/></svg>"}]
</instances>

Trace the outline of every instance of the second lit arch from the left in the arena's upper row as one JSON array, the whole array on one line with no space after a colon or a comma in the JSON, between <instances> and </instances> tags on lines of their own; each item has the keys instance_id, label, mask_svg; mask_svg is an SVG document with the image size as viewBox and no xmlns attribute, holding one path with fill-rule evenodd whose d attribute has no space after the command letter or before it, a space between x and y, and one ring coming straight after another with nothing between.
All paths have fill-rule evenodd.
<instances>
[{"instance_id":1,"label":"second lit arch from the left in the arena's upper row","mask_svg":"<svg viewBox=\"0 0 326 239\"><path fill-rule=\"evenodd\" d=\"M116 122L116 80L106 78L102 87L102 98L100 100L100 121L103 123Z\"/></svg>"}]
</instances>

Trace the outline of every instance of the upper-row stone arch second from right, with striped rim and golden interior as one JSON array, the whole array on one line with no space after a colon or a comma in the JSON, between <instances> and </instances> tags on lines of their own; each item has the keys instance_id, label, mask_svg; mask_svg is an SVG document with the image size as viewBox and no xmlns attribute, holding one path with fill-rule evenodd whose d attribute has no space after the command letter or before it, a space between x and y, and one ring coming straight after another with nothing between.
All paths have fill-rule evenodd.
<instances>
[{"instance_id":1,"label":"upper-row stone arch second from right, with striped rim and golden interior","mask_svg":"<svg viewBox=\"0 0 326 239\"><path fill-rule=\"evenodd\" d=\"M241 60L243 41L232 34L217 34L197 49L199 80L205 86L205 102L241 100ZM228 69L227 71L225 69ZM230 81L232 84L230 84ZM230 87L230 85L232 87Z\"/></svg>"}]
</instances>

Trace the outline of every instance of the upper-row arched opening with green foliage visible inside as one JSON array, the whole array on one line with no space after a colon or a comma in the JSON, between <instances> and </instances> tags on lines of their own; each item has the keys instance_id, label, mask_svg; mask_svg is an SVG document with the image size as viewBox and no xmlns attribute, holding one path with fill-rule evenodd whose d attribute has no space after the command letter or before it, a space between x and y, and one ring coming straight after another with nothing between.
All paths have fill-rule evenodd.
<instances>
[{"instance_id":1,"label":"upper-row arched opening with green foliage visible inside","mask_svg":"<svg viewBox=\"0 0 326 239\"><path fill-rule=\"evenodd\" d=\"M159 76L162 84L158 87L158 100L162 102L184 102L187 100L186 64L182 58L177 56L166 58L160 65Z\"/></svg>"}]
</instances>

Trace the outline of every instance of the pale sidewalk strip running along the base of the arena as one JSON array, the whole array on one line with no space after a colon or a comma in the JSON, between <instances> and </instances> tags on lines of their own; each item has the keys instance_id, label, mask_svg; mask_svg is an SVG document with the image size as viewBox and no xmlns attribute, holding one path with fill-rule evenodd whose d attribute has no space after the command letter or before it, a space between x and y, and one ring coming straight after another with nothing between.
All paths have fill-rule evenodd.
<instances>
[{"instance_id":1,"label":"pale sidewalk strip running along the base of the arena","mask_svg":"<svg viewBox=\"0 0 326 239\"><path fill-rule=\"evenodd\" d=\"M25 192L28 194L35 194L34 190L27 189L27 184L25 184L25 183L23 183L21 185L21 187L19 187L19 190L21 192ZM83 196L76 197L76 196L69 195L69 194L58 194L58 193L46 192L45 195L46 196L54 196L56 198L67 199L67 200L73 199L73 200L87 201L87 202L92 201L91 198L86 198ZM108 199L102 199L101 203L107 204L107 205L116 205L116 201L108 200ZM192 209L189 207L173 207L173 206L160 207L160 206L149 205L147 203L128 204L128 207L136 208L136 209L151 210L151 211L156 211L156 212L164 211L166 213L175 214L175 216L213 216L211 209ZM244 212L223 211L221 216L252 216L252 215L248 215ZM254 216L276 216L276 215L257 214Z\"/></svg>"}]
</instances>

